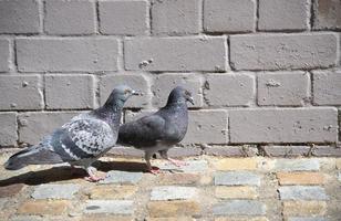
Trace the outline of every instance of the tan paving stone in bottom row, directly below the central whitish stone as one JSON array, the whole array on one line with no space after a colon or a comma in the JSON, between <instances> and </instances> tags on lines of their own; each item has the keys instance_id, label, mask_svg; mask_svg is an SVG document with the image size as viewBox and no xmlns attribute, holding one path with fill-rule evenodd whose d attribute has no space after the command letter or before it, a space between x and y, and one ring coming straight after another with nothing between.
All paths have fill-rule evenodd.
<instances>
[{"instance_id":1,"label":"tan paving stone in bottom row, directly below the central whitish stone","mask_svg":"<svg viewBox=\"0 0 341 221\"><path fill-rule=\"evenodd\" d=\"M200 212L199 203L190 200L152 201L147 208L152 218L196 215Z\"/></svg>"}]
</instances>

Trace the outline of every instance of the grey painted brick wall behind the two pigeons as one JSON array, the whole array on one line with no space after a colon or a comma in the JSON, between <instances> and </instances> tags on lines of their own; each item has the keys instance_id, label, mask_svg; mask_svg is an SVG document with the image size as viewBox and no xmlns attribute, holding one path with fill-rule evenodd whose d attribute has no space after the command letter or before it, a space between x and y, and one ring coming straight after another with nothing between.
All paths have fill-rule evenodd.
<instances>
[{"instance_id":1,"label":"grey painted brick wall behind the two pigeons","mask_svg":"<svg viewBox=\"0 0 341 221\"><path fill-rule=\"evenodd\" d=\"M193 92L185 146L332 150L340 33L337 0L0 0L0 146L37 143L125 83L144 92L125 120Z\"/></svg>"}]
</instances>

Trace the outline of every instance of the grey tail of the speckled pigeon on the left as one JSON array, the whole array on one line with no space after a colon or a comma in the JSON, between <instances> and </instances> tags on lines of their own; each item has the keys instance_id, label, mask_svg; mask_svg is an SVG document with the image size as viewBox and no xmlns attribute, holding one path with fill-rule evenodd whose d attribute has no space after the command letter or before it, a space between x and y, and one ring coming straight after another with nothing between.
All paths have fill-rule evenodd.
<instances>
[{"instance_id":1,"label":"grey tail of the speckled pigeon on the left","mask_svg":"<svg viewBox=\"0 0 341 221\"><path fill-rule=\"evenodd\" d=\"M8 170L18 170L28 165L44 165L44 164L60 164L63 162L61 157L49 149L39 146L32 146L12 155L4 168Z\"/></svg>"}]
</instances>

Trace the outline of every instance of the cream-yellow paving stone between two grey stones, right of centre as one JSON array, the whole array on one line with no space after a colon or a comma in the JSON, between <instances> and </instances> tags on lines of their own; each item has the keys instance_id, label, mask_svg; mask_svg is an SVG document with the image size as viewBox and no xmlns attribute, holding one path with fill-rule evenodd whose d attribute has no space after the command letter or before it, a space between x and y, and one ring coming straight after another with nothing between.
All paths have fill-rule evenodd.
<instances>
[{"instance_id":1,"label":"cream-yellow paving stone between two grey stones, right of centre","mask_svg":"<svg viewBox=\"0 0 341 221\"><path fill-rule=\"evenodd\" d=\"M215 196L221 199L256 199L258 193L254 187L219 186L215 189Z\"/></svg>"}]
</instances>

